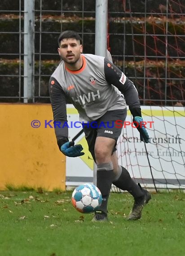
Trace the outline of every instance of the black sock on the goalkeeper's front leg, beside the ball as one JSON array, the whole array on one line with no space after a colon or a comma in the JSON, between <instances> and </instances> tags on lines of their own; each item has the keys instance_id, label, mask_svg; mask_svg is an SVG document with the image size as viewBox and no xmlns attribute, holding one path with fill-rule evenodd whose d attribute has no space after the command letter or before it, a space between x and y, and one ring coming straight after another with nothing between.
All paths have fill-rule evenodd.
<instances>
[{"instance_id":1,"label":"black sock on the goalkeeper's front leg, beside the ball","mask_svg":"<svg viewBox=\"0 0 185 256\"><path fill-rule=\"evenodd\" d=\"M97 211L107 212L107 203L110 194L114 172L112 170L97 170L97 187L101 191L102 203Z\"/></svg>"}]
</instances>

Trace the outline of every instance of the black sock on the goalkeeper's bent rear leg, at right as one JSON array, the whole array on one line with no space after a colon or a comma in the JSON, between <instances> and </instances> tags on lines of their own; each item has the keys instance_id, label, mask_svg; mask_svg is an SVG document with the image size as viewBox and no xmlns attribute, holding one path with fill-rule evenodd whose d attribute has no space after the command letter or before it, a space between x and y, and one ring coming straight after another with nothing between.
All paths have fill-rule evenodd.
<instances>
[{"instance_id":1,"label":"black sock on the goalkeeper's bent rear leg, at right","mask_svg":"<svg viewBox=\"0 0 185 256\"><path fill-rule=\"evenodd\" d=\"M122 173L113 184L121 190L127 190L134 198L143 196L144 193L135 181L130 177L129 172L122 166Z\"/></svg>"}]
</instances>

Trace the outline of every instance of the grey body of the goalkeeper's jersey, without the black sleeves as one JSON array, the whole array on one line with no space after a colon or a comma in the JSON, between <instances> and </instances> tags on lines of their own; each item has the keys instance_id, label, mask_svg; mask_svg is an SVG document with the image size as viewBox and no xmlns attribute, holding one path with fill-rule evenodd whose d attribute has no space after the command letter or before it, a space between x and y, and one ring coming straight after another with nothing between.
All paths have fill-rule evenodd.
<instances>
[{"instance_id":1,"label":"grey body of the goalkeeper's jersey, without the black sleeves","mask_svg":"<svg viewBox=\"0 0 185 256\"><path fill-rule=\"evenodd\" d=\"M108 110L126 108L121 92L106 81L104 58L92 54L83 54L82 57L81 70L69 71L61 62L52 75L62 87L66 99L78 110L80 122L97 120Z\"/></svg>"}]
</instances>

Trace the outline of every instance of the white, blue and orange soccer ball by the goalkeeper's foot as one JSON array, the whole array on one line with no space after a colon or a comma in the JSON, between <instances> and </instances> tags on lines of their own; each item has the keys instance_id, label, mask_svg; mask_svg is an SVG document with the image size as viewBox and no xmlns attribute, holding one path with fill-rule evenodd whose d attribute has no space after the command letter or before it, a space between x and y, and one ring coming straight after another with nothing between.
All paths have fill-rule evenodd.
<instances>
[{"instance_id":1,"label":"white, blue and orange soccer ball by the goalkeeper's foot","mask_svg":"<svg viewBox=\"0 0 185 256\"><path fill-rule=\"evenodd\" d=\"M102 196L100 190L92 184L79 185L73 191L71 202L79 212L94 212L101 205Z\"/></svg>"}]
</instances>

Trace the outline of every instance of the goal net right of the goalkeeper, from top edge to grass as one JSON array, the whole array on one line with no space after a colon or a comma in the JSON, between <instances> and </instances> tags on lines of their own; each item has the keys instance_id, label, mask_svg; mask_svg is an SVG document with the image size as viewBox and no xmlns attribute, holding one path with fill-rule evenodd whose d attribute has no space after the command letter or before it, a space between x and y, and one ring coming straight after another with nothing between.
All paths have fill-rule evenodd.
<instances>
[{"instance_id":1,"label":"goal net right of the goalkeeper, from top edge to grass","mask_svg":"<svg viewBox=\"0 0 185 256\"><path fill-rule=\"evenodd\" d=\"M184 13L182 0L123 0L117 12L109 6L110 53L137 87L150 134L144 144L137 129L126 125L118 141L119 163L155 190L185 189ZM132 123L129 113L127 121Z\"/></svg>"}]
</instances>

